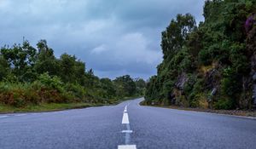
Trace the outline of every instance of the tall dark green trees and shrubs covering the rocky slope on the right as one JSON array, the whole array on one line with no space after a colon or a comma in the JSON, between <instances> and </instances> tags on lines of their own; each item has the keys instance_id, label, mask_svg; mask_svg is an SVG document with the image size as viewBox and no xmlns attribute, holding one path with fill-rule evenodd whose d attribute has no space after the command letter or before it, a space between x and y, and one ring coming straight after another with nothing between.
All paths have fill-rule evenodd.
<instances>
[{"instance_id":1,"label":"tall dark green trees and shrubs covering the rocky slope on the right","mask_svg":"<svg viewBox=\"0 0 256 149\"><path fill-rule=\"evenodd\" d=\"M147 85L147 103L252 108L255 10L252 0L207 0L199 26L191 14L177 14L162 32L164 60Z\"/></svg>"}]
</instances>

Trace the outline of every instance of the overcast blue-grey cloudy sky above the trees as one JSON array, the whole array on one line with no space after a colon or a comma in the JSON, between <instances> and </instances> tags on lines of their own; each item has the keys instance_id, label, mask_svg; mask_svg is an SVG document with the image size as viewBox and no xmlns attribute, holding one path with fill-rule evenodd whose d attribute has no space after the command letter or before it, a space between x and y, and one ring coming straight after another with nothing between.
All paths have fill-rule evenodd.
<instances>
[{"instance_id":1,"label":"overcast blue-grey cloudy sky above the trees","mask_svg":"<svg viewBox=\"0 0 256 149\"><path fill-rule=\"evenodd\" d=\"M148 77L162 60L160 34L176 14L203 20L204 0L0 0L0 46L46 39L99 77Z\"/></svg>"}]
</instances>

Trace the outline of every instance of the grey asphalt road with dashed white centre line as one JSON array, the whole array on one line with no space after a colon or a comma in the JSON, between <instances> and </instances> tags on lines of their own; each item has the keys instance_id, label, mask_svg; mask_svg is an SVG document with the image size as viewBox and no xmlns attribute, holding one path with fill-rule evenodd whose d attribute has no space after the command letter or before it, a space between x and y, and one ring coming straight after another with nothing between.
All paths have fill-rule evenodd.
<instances>
[{"instance_id":1,"label":"grey asphalt road with dashed white centre line","mask_svg":"<svg viewBox=\"0 0 256 149\"><path fill-rule=\"evenodd\" d=\"M0 148L256 148L256 119L139 106L140 100L0 115Z\"/></svg>"}]
</instances>

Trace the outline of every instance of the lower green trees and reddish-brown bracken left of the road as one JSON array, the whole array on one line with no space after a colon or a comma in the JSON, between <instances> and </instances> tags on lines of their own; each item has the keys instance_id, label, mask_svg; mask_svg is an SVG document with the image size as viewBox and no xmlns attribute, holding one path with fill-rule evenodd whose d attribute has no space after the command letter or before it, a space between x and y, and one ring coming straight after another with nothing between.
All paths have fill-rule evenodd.
<instances>
[{"instance_id":1,"label":"lower green trees and reddish-brown bracken left of the road","mask_svg":"<svg viewBox=\"0 0 256 149\"><path fill-rule=\"evenodd\" d=\"M0 106L24 107L43 103L113 103L141 96L146 83L129 75L115 80L96 77L83 61L61 54L45 40L4 46L0 53Z\"/></svg>"}]
</instances>

